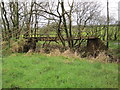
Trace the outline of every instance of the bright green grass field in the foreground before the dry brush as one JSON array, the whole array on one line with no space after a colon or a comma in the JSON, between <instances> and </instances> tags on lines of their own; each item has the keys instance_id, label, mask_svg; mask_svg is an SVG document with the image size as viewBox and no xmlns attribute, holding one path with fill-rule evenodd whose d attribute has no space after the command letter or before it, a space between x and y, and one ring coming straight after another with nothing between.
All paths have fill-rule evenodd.
<instances>
[{"instance_id":1,"label":"bright green grass field in the foreground before the dry brush","mask_svg":"<svg viewBox=\"0 0 120 90\"><path fill-rule=\"evenodd\" d=\"M3 58L2 83L3 88L118 88L118 65L16 54Z\"/></svg>"}]
</instances>

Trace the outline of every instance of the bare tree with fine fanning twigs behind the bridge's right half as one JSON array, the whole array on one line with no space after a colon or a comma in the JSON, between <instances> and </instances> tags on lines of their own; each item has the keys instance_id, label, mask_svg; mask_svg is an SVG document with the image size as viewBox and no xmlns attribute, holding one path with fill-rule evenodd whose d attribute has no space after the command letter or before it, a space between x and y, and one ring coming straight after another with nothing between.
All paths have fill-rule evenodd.
<instances>
[{"instance_id":1,"label":"bare tree with fine fanning twigs behind the bridge's right half","mask_svg":"<svg viewBox=\"0 0 120 90\"><path fill-rule=\"evenodd\" d=\"M96 2L76 2L74 12L76 13L76 22L77 22L77 36L81 37L81 33L89 25L89 21L93 19L95 14L100 11L100 5ZM86 32L87 33L87 32ZM89 33L87 33L88 35ZM74 44L78 46L81 44L80 40L76 40Z\"/></svg>"}]
</instances>

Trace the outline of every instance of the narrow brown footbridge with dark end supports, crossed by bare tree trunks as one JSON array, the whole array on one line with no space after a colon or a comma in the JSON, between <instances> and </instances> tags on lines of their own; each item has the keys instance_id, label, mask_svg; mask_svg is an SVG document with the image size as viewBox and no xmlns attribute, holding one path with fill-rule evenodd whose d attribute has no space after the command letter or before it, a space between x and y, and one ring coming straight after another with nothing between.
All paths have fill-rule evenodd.
<instances>
[{"instance_id":1,"label":"narrow brown footbridge with dark end supports, crossed by bare tree trunks","mask_svg":"<svg viewBox=\"0 0 120 90\"><path fill-rule=\"evenodd\" d=\"M51 37L51 36L27 36L24 37L25 39L27 39L27 45L29 48L35 49L36 48L36 42L38 41L45 41L43 43L43 47L46 43L46 41L49 41L49 43L51 41L60 41L59 37ZM87 49L91 52L93 52L94 50L97 50L98 48L104 49L105 45L104 43L102 43L102 41L98 38L98 37L94 37L94 36L86 36L86 37L72 37L72 38L65 38L64 37L64 41L69 41L69 40L87 40ZM57 42L58 43L58 42Z\"/></svg>"}]
</instances>

